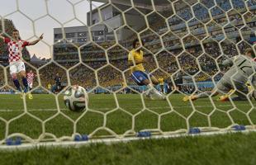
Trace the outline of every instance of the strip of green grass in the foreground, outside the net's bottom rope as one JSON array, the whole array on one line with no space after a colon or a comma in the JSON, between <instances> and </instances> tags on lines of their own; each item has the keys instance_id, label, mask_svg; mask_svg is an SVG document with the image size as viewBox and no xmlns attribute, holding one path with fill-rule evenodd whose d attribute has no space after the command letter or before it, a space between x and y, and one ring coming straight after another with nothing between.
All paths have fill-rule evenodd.
<instances>
[{"instance_id":1,"label":"strip of green grass in the foreground, outside the net's bottom rope","mask_svg":"<svg viewBox=\"0 0 256 165\"><path fill-rule=\"evenodd\" d=\"M149 139L127 144L91 144L81 148L0 151L1 164L233 164L256 163L256 134L225 134Z\"/></svg>"}]
</instances>

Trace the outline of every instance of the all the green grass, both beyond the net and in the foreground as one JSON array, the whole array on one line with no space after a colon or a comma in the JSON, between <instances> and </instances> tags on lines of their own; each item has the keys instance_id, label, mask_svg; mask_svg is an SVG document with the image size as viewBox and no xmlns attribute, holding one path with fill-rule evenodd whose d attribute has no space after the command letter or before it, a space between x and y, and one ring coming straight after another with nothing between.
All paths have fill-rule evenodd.
<instances>
[{"instance_id":1,"label":"all the green grass, both beyond the net and in the foreground","mask_svg":"<svg viewBox=\"0 0 256 165\"><path fill-rule=\"evenodd\" d=\"M194 110L192 104L183 102L182 98L174 94L168 98L169 102L145 100L144 107L138 95L116 95L116 99L113 95L90 95L90 111L73 112L66 109L62 96L55 99L53 95L34 95L33 100L26 100L25 112L19 96L0 95L0 139L5 138L6 131L7 134L26 134L32 139L37 139L44 130L58 138L71 136L74 132L92 134L104 123L116 134L124 134L127 130L175 131L256 123L255 101L253 106L249 101L237 101L232 105L213 98L215 108L209 99L201 99L193 102ZM60 111L57 111L57 101ZM98 135L110 133L99 130L93 137ZM150 139L128 144L4 152L0 153L0 158L7 160L3 161L5 164L255 164L255 139L256 134Z\"/></svg>"}]
</instances>

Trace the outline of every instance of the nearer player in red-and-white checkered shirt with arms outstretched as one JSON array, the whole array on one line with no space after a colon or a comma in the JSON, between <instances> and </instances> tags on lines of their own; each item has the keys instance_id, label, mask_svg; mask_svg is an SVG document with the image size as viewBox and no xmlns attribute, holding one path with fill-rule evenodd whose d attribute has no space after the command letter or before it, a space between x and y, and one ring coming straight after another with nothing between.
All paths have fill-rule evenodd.
<instances>
[{"instance_id":1,"label":"nearer player in red-and-white checkered shirt with arms outstretched","mask_svg":"<svg viewBox=\"0 0 256 165\"><path fill-rule=\"evenodd\" d=\"M43 39L43 35L40 35L39 39L28 42L26 40L20 39L19 31L13 30L12 31L12 39L8 37L4 37L0 35L0 39L4 40L7 44L7 49L9 51L9 63L10 63L10 73L12 76L12 80L14 85L17 87L17 90L22 92L20 82L17 80L17 74L21 75L22 82L24 85L24 92L28 92L28 83L26 79L26 68L25 64L22 61L22 53L24 47L29 45L36 45L40 40ZM28 97L32 99L31 93L28 93Z\"/></svg>"}]
</instances>

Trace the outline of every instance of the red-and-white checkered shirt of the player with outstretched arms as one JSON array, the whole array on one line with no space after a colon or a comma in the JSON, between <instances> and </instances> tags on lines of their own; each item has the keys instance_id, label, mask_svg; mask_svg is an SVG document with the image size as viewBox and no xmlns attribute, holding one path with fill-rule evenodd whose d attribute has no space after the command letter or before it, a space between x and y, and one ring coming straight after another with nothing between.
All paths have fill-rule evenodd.
<instances>
[{"instance_id":1,"label":"red-and-white checkered shirt of the player with outstretched arms","mask_svg":"<svg viewBox=\"0 0 256 165\"><path fill-rule=\"evenodd\" d=\"M9 51L9 63L21 60L21 51L25 46L29 45L29 42L26 40L18 40L16 42L7 37L4 38L4 42L7 44L7 49Z\"/></svg>"}]
</instances>

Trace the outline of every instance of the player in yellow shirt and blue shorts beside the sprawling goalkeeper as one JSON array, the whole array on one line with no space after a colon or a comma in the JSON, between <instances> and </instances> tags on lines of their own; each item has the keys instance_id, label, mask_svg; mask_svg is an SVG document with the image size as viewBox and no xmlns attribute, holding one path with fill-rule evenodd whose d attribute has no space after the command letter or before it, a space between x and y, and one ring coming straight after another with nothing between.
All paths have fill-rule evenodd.
<instances>
[{"instance_id":1,"label":"player in yellow shirt and blue shorts beside the sprawling goalkeeper","mask_svg":"<svg viewBox=\"0 0 256 165\"><path fill-rule=\"evenodd\" d=\"M142 45L144 44L141 41ZM133 50L130 51L128 55L128 63L130 65L130 77L140 86L146 85L149 90L145 93L147 97L151 99L165 99L164 94L157 91L154 85L158 85L159 81L154 78L152 74L145 71L143 63L145 59L143 58L144 52L140 50L140 41L138 39L133 41ZM150 80L151 83L150 82Z\"/></svg>"}]
</instances>

